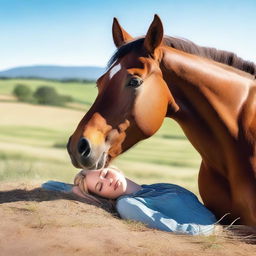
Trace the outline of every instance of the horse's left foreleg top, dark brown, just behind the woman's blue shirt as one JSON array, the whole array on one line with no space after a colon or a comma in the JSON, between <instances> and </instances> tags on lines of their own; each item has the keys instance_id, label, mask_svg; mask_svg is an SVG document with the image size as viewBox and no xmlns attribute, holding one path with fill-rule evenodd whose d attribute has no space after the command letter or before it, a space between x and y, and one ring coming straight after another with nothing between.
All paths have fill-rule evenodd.
<instances>
[{"instance_id":1,"label":"horse's left foreleg top, dark brown, just behind the woman's blue shirt","mask_svg":"<svg viewBox=\"0 0 256 256\"><path fill-rule=\"evenodd\" d=\"M217 219L230 213L232 205L229 184L220 174L202 162L198 182L205 206L215 214ZM221 223L229 224L234 219L235 217L229 214Z\"/></svg>"}]
</instances>

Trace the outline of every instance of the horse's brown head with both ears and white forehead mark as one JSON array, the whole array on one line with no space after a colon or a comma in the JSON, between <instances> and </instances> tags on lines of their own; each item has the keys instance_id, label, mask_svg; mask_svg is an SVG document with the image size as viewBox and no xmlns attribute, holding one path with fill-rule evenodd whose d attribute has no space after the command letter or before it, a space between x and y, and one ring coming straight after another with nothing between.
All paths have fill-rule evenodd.
<instances>
[{"instance_id":1,"label":"horse's brown head with both ears and white forehead mark","mask_svg":"<svg viewBox=\"0 0 256 256\"><path fill-rule=\"evenodd\" d=\"M110 67L97 81L98 96L70 137L68 152L74 166L96 169L150 137L161 126L171 99L159 67L163 40L155 16L147 34L133 39L113 22L118 47Z\"/></svg>"}]
</instances>

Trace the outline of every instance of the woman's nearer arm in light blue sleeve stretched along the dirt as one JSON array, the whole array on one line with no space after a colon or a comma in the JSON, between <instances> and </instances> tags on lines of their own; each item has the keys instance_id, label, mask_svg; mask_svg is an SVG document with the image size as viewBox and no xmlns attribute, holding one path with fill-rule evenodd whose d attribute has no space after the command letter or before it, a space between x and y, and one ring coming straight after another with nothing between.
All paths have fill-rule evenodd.
<instances>
[{"instance_id":1,"label":"woman's nearer arm in light blue sleeve stretched along the dirt","mask_svg":"<svg viewBox=\"0 0 256 256\"><path fill-rule=\"evenodd\" d=\"M178 234L210 235L215 225L198 225L195 223L179 224L161 212L148 208L135 198L124 197L117 201L117 211L121 218L140 221L148 227Z\"/></svg>"}]
</instances>

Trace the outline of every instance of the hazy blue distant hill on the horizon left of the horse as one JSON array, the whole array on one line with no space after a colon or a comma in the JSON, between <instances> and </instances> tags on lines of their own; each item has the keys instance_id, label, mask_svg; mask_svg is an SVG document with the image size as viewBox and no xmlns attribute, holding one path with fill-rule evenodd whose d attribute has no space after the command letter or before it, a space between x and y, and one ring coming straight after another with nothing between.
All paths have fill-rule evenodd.
<instances>
[{"instance_id":1,"label":"hazy blue distant hill on the horizon left of the horse","mask_svg":"<svg viewBox=\"0 0 256 256\"><path fill-rule=\"evenodd\" d=\"M96 80L104 73L104 70L102 67L86 66L26 66L0 71L0 77Z\"/></svg>"}]
</instances>

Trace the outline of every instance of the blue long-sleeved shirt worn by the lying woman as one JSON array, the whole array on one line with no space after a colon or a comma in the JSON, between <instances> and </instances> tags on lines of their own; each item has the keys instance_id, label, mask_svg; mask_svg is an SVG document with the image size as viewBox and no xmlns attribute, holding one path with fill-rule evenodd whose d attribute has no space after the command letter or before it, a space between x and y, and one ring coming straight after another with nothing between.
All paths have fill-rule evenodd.
<instances>
[{"instance_id":1,"label":"blue long-sleeved shirt worn by the lying woman","mask_svg":"<svg viewBox=\"0 0 256 256\"><path fill-rule=\"evenodd\" d=\"M116 209L123 219L180 234L209 235L216 223L192 192L167 183L142 185L138 192L119 197Z\"/></svg>"}]
</instances>

